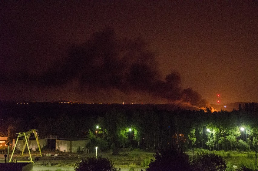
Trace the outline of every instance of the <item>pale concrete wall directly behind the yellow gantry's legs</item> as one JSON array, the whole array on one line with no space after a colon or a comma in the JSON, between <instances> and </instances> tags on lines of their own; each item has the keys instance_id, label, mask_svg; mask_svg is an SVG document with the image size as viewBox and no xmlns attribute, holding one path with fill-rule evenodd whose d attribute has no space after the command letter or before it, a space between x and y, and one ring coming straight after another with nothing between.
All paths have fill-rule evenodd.
<instances>
[{"instance_id":1,"label":"pale concrete wall directly behind the yellow gantry's legs","mask_svg":"<svg viewBox=\"0 0 258 171\"><path fill-rule=\"evenodd\" d=\"M15 146L15 139L13 139L13 147ZM39 142L39 146L40 148L43 148L43 146L47 146L47 140L46 139L39 139L38 140ZM23 139L19 139L18 140L18 143L15 147L15 149L18 149L18 150L22 150L22 143L23 143ZM32 149L32 151L36 151L36 149L38 148L38 144L37 144L37 141L35 139L30 139L28 141L28 144L29 144L29 148ZM26 146L25 149L28 149L28 147Z\"/></svg>"}]
</instances>

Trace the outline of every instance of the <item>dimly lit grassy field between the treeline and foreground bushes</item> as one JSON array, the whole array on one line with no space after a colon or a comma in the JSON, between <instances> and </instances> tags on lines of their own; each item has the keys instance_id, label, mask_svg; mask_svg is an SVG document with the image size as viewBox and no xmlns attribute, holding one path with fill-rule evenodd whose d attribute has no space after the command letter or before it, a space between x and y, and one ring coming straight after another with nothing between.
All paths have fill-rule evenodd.
<instances>
[{"instance_id":1,"label":"dimly lit grassy field between the treeline and foreground bushes","mask_svg":"<svg viewBox=\"0 0 258 171\"><path fill-rule=\"evenodd\" d=\"M237 151L209 151L203 149L195 149L194 156L198 153L215 153L220 155L223 159L226 160L229 168L232 168L233 165L238 168L241 165L245 165L250 169L255 169L255 152L237 152ZM46 152L45 152L46 153ZM48 152L51 153L51 152ZM56 152L52 152L55 154ZM186 152L189 155L190 160L192 160L193 152ZM142 150L133 150L129 151L127 155L124 155L123 152L119 152L118 155L112 155L111 152L98 153L98 156L110 159L114 165L118 168L141 170L147 168L148 164L151 162L154 152L147 152ZM94 157L95 153L89 154L78 154L78 153L61 153L58 156L44 156L39 157L39 160L35 162L35 165L48 165L51 163L52 166L74 166L74 163L80 162L82 158ZM19 155L17 158L21 158ZM24 158L25 159L25 158ZM230 170L230 169L228 169ZM232 169L231 169L232 170Z\"/></svg>"}]
</instances>

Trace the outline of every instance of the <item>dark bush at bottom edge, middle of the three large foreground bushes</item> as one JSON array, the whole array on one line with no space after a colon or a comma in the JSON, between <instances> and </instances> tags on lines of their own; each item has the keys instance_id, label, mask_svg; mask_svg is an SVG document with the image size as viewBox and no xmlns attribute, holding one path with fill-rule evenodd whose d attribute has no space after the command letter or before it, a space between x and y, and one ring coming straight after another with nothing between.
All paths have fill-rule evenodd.
<instances>
[{"instance_id":1,"label":"dark bush at bottom edge, middle of the three large foreground bushes","mask_svg":"<svg viewBox=\"0 0 258 171\"><path fill-rule=\"evenodd\" d=\"M192 170L187 154L177 150L166 150L156 153L146 171Z\"/></svg>"}]
</instances>

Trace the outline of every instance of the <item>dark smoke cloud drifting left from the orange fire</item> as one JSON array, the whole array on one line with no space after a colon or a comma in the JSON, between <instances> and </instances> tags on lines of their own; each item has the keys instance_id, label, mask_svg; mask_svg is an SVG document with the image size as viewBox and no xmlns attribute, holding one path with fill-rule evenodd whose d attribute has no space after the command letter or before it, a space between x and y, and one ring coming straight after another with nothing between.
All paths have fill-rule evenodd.
<instances>
[{"instance_id":1,"label":"dark smoke cloud drifting left from the orange fire","mask_svg":"<svg viewBox=\"0 0 258 171\"><path fill-rule=\"evenodd\" d=\"M155 53L141 39L117 39L113 30L96 32L83 45L71 46L68 57L41 75L16 72L1 75L1 82L23 82L38 86L60 86L74 79L82 88L147 92L170 102L204 107L207 102L196 91L182 89L181 77L172 72L162 79Z\"/></svg>"}]
</instances>

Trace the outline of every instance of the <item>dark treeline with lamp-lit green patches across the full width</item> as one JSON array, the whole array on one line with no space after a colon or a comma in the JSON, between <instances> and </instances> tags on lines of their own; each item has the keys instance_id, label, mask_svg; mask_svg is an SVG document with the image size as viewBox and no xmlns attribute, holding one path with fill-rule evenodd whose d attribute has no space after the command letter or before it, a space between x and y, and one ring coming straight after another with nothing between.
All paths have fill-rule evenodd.
<instances>
[{"instance_id":1,"label":"dark treeline with lamp-lit green patches across the full width","mask_svg":"<svg viewBox=\"0 0 258 171\"><path fill-rule=\"evenodd\" d=\"M247 105L246 105L247 104ZM1 136L38 129L40 138L49 135L88 137L92 146L141 149L255 150L258 143L257 103L246 103L232 112L160 109L108 110L99 116L35 116L0 121ZM248 106L248 107L247 107ZM248 110L247 110L248 109ZM98 126L98 127L97 127Z\"/></svg>"}]
</instances>

